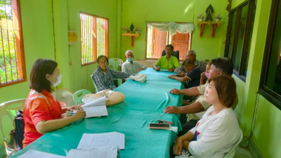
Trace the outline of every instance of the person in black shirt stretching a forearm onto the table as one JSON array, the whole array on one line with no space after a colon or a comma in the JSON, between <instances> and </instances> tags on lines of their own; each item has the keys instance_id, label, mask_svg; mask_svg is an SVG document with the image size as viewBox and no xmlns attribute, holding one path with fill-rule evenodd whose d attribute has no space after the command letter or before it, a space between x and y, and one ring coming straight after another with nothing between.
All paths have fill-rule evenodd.
<instances>
[{"instance_id":1,"label":"person in black shirt stretching a forearm onto the table","mask_svg":"<svg viewBox=\"0 0 281 158\"><path fill-rule=\"evenodd\" d=\"M199 86L200 75L202 70L197 67L194 60L186 59L183 67L185 68L186 74L171 74L168 78L176 79L184 83L185 88L191 88L193 86Z\"/></svg>"}]
</instances>

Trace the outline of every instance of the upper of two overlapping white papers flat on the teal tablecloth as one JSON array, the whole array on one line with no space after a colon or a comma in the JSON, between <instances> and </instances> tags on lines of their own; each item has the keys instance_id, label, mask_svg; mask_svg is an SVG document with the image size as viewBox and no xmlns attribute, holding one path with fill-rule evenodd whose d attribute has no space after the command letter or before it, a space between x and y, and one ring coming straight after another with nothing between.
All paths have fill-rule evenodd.
<instances>
[{"instance_id":1,"label":"upper of two overlapping white papers flat on the teal tablecloth","mask_svg":"<svg viewBox=\"0 0 281 158\"><path fill-rule=\"evenodd\" d=\"M77 149L92 149L96 147L117 146L125 149L125 135L118 132L89 134L84 133Z\"/></svg>"}]
</instances>

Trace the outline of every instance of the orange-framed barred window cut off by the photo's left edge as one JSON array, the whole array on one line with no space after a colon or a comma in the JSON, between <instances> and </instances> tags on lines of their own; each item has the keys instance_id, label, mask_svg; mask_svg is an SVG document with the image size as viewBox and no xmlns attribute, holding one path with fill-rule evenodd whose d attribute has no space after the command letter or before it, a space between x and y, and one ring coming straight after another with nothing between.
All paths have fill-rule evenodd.
<instances>
[{"instance_id":1,"label":"orange-framed barred window cut off by the photo's left edge","mask_svg":"<svg viewBox=\"0 0 281 158\"><path fill-rule=\"evenodd\" d=\"M20 0L0 0L0 87L26 81Z\"/></svg>"}]
</instances>

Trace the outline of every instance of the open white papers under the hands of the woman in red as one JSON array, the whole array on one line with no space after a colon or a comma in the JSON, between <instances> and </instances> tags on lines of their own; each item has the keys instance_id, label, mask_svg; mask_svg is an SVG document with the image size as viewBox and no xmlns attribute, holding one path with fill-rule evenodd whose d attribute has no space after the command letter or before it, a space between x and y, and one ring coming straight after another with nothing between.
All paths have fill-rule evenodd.
<instances>
[{"instance_id":1,"label":"open white papers under the hands of the woman in red","mask_svg":"<svg viewBox=\"0 0 281 158\"><path fill-rule=\"evenodd\" d=\"M105 96L96 100L91 100L89 103L82 105L86 112L86 118L107 116L107 109L105 105Z\"/></svg>"}]
</instances>

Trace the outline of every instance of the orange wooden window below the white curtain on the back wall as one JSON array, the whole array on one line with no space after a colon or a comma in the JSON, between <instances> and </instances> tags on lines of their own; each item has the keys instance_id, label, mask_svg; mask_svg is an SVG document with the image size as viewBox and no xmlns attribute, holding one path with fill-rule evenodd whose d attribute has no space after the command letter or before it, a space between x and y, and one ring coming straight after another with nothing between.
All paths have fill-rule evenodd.
<instances>
[{"instance_id":1,"label":"orange wooden window below the white curtain on the back wall","mask_svg":"<svg viewBox=\"0 0 281 158\"><path fill-rule=\"evenodd\" d=\"M174 51L179 51L180 60L185 60L186 52L190 49L190 34L181 34L176 32L170 36L169 32L162 32L154 27L148 26L146 55L147 59L158 59L162 55L166 44L172 44Z\"/></svg>"}]
</instances>

